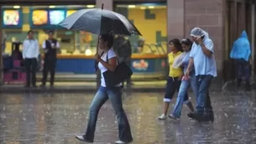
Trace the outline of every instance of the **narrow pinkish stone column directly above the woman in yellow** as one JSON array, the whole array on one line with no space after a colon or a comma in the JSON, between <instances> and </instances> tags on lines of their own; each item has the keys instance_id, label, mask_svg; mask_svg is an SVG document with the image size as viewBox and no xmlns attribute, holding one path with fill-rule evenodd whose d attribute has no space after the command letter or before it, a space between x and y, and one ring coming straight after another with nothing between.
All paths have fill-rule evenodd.
<instances>
[{"instance_id":1,"label":"narrow pinkish stone column directly above the woman in yellow","mask_svg":"<svg viewBox=\"0 0 256 144\"><path fill-rule=\"evenodd\" d=\"M170 39L184 38L184 0L167 1L167 35ZM169 52L169 49L167 49Z\"/></svg>"}]
</instances>

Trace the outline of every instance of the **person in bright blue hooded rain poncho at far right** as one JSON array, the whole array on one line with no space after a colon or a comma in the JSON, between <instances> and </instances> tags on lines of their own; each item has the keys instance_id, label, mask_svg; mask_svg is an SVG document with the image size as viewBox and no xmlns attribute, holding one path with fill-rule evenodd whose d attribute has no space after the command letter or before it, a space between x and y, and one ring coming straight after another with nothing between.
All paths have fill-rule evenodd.
<instances>
[{"instance_id":1,"label":"person in bright blue hooded rain poncho at far right","mask_svg":"<svg viewBox=\"0 0 256 144\"><path fill-rule=\"evenodd\" d=\"M238 38L232 46L230 58L234 59L235 62L238 87L241 85L242 79L244 77L246 90L251 90L249 64L250 55L251 48L248 41L248 35L246 31L243 30L240 38Z\"/></svg>"}]
</instances>

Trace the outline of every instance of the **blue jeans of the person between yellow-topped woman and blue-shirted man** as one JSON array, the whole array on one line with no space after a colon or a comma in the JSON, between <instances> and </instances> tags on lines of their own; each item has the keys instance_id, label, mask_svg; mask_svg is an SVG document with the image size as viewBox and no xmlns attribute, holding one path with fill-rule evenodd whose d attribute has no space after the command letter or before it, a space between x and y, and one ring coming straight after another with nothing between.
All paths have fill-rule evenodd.
<instances>
[{"instance_id":1,"label":"blue jeans of the person between yellow-topped woman and blue-shirted man","mask_svg":"<svg viewBox=\"0 0 256 144\"><path fill-rule=\"evenodd\" d=\"M172 112L172 115L175 116L176 118L180 118L181 115L181 110L182 110L182 105L186 104L189 102L188 95L187 95L187 90L192 87L192 90L194 94L197 96L198 95L198 88L197 88L197 83L196 83L196 75L191 75L190 80L182 80L181 85L180 85L180 90L179 94L175 103L175 109ZM184 101L186 99L186 101Z\"/></svg>"}]
</instances>

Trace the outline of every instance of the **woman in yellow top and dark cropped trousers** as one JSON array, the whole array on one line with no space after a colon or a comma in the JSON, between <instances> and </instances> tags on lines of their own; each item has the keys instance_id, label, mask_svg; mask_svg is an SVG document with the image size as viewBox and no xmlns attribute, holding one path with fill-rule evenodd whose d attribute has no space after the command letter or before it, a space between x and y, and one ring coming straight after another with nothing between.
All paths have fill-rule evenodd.
<instances>
[{"instance_id":1,"label":"woman in yellow top and dark cropped trousers","mask_svg":"<svg viewBox=\"0 0 256 144\"><path fill-rule=\"evenodd\" d=\"M173 63L175 61L175 58L177 58L180 54L182 54L182 48L180 44L179 39L171 39L169 42L170 47L170 54L168 54L169 64L170 64L170 71L169 76L167 78L167 84L166 84L166 90L165 90L165 108L163 115L159 116L159 120L165 120L167 111L170 106L170 101L172 100L173 96L175 95L175 91L179 91L180 84L181 84L181 77L183 75L183 70L181 67L174 68ZM186 94L185 97L188 97ZM193 111L193 107L191 105L188 105L191 111Z\"/></svg>"}]
</instances>

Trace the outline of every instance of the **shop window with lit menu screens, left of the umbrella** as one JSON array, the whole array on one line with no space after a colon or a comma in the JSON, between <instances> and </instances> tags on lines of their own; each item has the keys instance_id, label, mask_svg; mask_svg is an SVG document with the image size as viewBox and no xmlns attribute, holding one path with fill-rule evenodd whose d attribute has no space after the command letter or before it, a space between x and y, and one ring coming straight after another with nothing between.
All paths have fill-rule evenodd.
<instances>
[{"instance_id":1,"label":"shop window with lit menu screens, left of the umbrella","mask_svg":"<svg viewBox=\"0 0 256 144\"><path fill-rule=\"evenodd\" d=\"M79 9L94 8L85 6L3 6L3 31L6 33L6 54L11 54L13 42L23 42L27 32L34 30L34 38L39 46L47 37L47 31L55 30L55 39L60 42L60 54L89 54L96 52L97 35L79 31L71 31L56 27L65 17ZM43 53L43 50L40 50Z\"/></svg>"}]
</instances>

